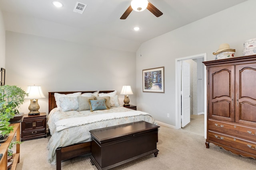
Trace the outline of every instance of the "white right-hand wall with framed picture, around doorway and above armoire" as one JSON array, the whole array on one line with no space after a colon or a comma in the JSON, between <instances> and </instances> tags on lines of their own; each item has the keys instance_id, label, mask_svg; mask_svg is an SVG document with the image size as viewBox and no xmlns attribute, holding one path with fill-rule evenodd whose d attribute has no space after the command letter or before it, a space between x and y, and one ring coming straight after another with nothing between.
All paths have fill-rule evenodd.
<instances>
[{"instance_id":1,"label":"white right-hand wall with framed picture, around doorway and above armoire","mask_svg":"<svg viewBox=\"0 0 256 170\"><path fill-rule=\"evenodd\" d=\"M221 43L242 56L244 41L256 38L255 6L255 0L248 0L144 42L136 53L137 108L175 126L175 59L207 53L207 60L214 60L212 53ZM143 93L142 70L160 66L165 69L165 93Z\"/></svg>"}]
</instances>

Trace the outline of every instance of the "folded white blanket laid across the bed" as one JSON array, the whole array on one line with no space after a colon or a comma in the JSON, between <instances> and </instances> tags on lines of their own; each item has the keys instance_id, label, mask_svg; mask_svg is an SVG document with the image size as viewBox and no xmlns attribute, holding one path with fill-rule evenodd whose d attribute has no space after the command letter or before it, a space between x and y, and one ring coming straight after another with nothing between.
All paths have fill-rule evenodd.
<instances>
[{"instance_id":1,"label":"folded white blanket laid across the bed","mask_svg":"<svg viewBox=\"0 0 256 170\"><path fill-rule=\"evenodd\" d=\"M136 115L149 115L143 111L125 111L125 112L117 112L117 113L104 113L99 115L89 115L85 117L74 117L68 119L62 119L55 122L56 131L62 131L63 129L67 129L69 127L86 125L89 123L95 123L99 121L111 120L122 117L131 117Z\"/></svg>"}]
</instances>

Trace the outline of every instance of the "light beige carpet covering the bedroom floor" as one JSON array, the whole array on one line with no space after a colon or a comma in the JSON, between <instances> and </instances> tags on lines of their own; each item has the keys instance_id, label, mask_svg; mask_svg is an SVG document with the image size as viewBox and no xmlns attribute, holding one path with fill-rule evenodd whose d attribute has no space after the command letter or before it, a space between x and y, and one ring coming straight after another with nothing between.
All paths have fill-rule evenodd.
<instances>
[{"instance_id":1,"label":"light beige carpet covering the bedroom floor","mask_svg":"<svg viewBox=\"0 0 256 170\"><path fill-rule=\"evenodd\" d=\"M47 138L25 141L20 145L17 170L55 170L47 162ZM114 170L256 170L256 160L244 158L210 144L206 149L202 135L184 129L160 127L159 154L154 154L114 168ZM62 170L96 170L90 158L79 157L62 162Z\"/></svg>"}]
</instances>

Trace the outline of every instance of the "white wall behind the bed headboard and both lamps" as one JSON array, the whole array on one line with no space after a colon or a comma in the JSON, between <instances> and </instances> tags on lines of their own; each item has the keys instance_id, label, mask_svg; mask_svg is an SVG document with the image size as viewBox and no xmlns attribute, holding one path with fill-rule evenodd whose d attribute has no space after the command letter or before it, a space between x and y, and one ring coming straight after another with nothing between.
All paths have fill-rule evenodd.
<instances>
[{"instance_id":1,"label":"white wall behind the bed headboard and both lamps","mask_svg":"<svg viewBox=\"0 0 256 170\"><path fill-rule=\"evenodd\" d=\"M6 31L6 84L26 90L40 85L46 98L40 112L48 113L48 92L117 90L131 85L136 104L136 54ZM120 104L124 96L119 95ZM29 100L19 111L28 113Z\"/></svg>"}]
</instances>

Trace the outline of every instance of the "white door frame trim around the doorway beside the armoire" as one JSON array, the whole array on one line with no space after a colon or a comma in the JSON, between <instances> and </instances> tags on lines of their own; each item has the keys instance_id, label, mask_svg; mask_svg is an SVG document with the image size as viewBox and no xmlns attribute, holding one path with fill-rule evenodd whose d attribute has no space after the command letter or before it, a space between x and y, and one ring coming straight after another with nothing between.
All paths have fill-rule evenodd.
<instances>
[{"instance_id":1,"label":"white door frame trim around the doorway beside the armoire","mask_svg":"<svg viewBox=\"0 0 256 170\"><path fill-rule=\"evenodd\" d=\"M204 58L204 61L206 61L206 53L198 54L198 55L192 55L188 57L182 57L175 59L175 113L176 113L176 123L175 128L181 129L181 68L180 68L180 62L184 60L190 60L190 59L198 59L198 58ZM207 89L206 89L206 66L204 66L204 138L206 138L206 120L207 120Z\"/></svg>"}]
</instances>

